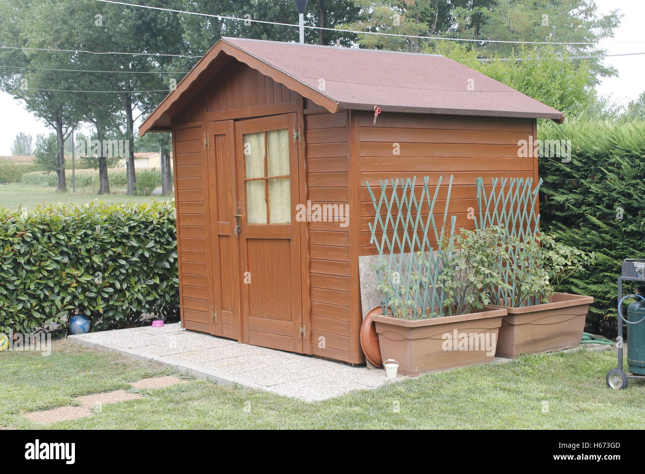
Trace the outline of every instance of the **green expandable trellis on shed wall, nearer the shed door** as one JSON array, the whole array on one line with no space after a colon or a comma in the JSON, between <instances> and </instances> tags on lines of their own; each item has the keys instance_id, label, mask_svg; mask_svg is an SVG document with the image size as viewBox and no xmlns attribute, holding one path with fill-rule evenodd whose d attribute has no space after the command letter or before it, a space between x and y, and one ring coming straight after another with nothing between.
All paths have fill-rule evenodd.
<instances>
[{"instance_id":1,"label":"green expandable trellis on shed wall, nearer the shed door","mask_svg":"<svg viewBox=\"0 0 645 474\"><path fill-rule=\"evenodd\" d=\"M425 176L418 199L415 192L417 177L379 181L378 199L370 183L365 182L375 210L374 222L369 222L368 226L372 233L370 242L375 244L379 252L377 282L379 286L388 286L392 291L389 300L383 301L383 310L388 306L395 312L392 302L400 301L406 306L404 317L408 319L443 315L444 293L437 286L437 281L444 257L441 252L435 253L435 250L441 250L446 237L452 242L455 233L455 216L450 219L448 235L445 233L452 180L451 175L439 226L434 214L441 190L441 177L434 192L431 192L430 177ZM375 186L375 190L378 193L379 187ZM428 206L426 216L423 215L424 205ZM377 233L381 233L381 236ZM433 248L429 236L434 237L436 248Z\"/></svg>"}]
</instances>

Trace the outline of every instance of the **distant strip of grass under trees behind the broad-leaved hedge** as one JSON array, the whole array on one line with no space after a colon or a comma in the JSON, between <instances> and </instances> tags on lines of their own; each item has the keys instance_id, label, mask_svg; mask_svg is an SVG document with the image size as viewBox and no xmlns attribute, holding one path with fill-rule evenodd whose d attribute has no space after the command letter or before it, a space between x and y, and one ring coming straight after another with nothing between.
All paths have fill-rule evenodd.
<instances>
[{"instance_id":1,"label":"distant strip of grass under trees behind the broad-leaved hedge","mask_svg":"<svg viewBox=\"0 0 645 474\"><path fill-rule=\"evenodd\" d=\"M130 196L124 190L114 190L108 195L98 195L77 190L77 193L57 193L56 188L45 188L43 186L27 186L25 184L10 183L0 184L0 206L6 208L23 207L35 208L43 202L72 202L82 204L92 202L95 199L104 202L126 203L126 202L148 202L150 199L164 201L164 196Z\"/></svg>"}]
</instances>

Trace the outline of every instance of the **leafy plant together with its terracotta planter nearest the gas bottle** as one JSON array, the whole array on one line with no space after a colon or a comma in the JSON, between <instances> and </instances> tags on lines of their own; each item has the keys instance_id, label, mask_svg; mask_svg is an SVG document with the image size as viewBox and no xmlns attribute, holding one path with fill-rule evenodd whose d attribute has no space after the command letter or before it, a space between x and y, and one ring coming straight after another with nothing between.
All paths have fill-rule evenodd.
<instances>
[{"instance_id":1,"label":"leafy plant together with its terracotta planter nearest the gas bottle","mask_svg":"<svg viewBox=\"0 0 645 474\"><path fill-rule=\"evenodd\" d=\"M594 255L556 242L546 233L506 235L504 245L506 286L489 283L488 289L495 307L508 312L496 355L517 358L579 346L593 298L554 289Z\"/></svg>"}]
</instances>

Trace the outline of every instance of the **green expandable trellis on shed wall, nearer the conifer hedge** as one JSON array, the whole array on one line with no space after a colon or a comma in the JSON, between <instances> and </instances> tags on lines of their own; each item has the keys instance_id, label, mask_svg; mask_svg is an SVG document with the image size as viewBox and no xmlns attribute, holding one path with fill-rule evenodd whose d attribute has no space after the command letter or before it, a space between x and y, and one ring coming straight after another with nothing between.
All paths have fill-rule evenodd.
<instances>
[{"instance_id":1,"label":"green expandable trellis on shed wall, nearer the conifer hedge","mask_svg":"<svg viewBox=\"0 0 645 474\"><path fill-rule=\"evenodd\" d=\"M500 226L507 235L523 239L539 232L540 214L537 212L538 192L542 186L540 179L533 187L533 178L492 178L490 193L486 193L484 180L478 177L477 204L479 215L475 217L475 228L485 229ZM499 187L498 187L499 184ZM506 262L504 281L510 284L510 290L498 290L498 301L513 299L518 293L518 281L513 278L517 270L519 250L512 249L511 260ZM533 295L537 299L542 295ZM529 298L526 305L533 304ZM522 302L521 306L524 306Z\"/></svg>"}]
</instances>

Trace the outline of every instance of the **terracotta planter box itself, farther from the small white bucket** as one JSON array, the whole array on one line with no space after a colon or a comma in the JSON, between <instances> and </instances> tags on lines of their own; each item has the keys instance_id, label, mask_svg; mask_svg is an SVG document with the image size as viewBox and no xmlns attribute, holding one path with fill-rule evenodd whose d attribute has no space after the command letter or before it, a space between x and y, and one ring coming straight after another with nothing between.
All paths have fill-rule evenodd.
<instances>
[{"instance_id":1,"label":"terracotta planter box itself, farther from the small white bucket","mask_svg":"<svg viewBox=\"0 0 645 474\"><path fill-rule=\"evenodd\" d=\"M499 357L515 359L520 354L559 351L581 344L584 319L593 303L590 296L553 293L549 302L513 308L502 319L497 341Z\"/></svg>"}]
</instances>

